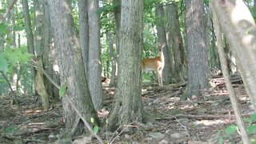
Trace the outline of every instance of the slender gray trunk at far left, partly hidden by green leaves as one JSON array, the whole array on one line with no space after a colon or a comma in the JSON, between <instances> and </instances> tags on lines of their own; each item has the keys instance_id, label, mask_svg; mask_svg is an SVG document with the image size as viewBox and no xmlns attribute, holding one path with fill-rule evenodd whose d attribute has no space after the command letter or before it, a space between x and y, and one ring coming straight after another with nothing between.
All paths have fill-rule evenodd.
<instances>
[{"instance_id":1,"label":"slender gray trunk at far left, partly hidden by green leaves","mask_svg":"<svg viewBox=\"0 0 256 144\"><path fill-rule=\"evenodd\" d=\"M32 25L30 22L30 10L27 0L22 0L22 9L25 16L25 27L26 27L26 41L27 49L30 54L34 55L34 36L32 32ZM31 66L33 81L35 83L36 70Z\"/></svg>"}]
</instances>

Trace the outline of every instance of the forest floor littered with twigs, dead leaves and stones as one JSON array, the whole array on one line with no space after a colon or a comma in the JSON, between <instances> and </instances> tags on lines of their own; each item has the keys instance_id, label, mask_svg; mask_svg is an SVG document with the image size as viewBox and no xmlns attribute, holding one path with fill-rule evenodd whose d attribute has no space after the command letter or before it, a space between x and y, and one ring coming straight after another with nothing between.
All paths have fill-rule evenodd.
<instances>
[{"instance_id":1,"label":"forest floor littered with twigs, dead leaves and stones","mask_svg":"<svg viewBox=\"0 0 256 144\"><path fill-rule=\"evenodd\" d=\"M235 125L234 110L223 79L215 78L212 82L212 90L202 90L202 96L186 101L180 100L185 85L143 86L142 102L148 122L134 122L133 133L101 132L99 136L109 143L196 144L218 143L221 138L223 143L242 143L237 132L230 137L224 133L227 126ZM241 81L235 81L233 86L243 118L250 118L253 109L245 87ZM104 110L98 113L102 119L113 103L114 89L104 83L103 93ZM64 130L61 102L48 111L42 111L36 96L19 96L18 102L22 114L17 107L10 106L10 97L0 96L0 143L71 143L56 141ZM93 139L89 143L98 141Z\"/></svg>"}]
</instances>

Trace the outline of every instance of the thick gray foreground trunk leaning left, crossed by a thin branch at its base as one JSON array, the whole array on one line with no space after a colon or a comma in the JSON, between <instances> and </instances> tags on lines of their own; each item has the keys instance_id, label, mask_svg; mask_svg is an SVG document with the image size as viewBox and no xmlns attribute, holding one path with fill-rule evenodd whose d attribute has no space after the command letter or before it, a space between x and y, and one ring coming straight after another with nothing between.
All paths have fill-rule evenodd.
<instances>
[{"instance_id":1,"label":"thick gray foreground trunk leaning left, crossed by a thin branch at its base","mask_svg":"<svg viewBox=\"0 0 256 144\"><path fill-rule=\"evenodd\" d=\"M50 22L54 29L60 79L62 85L67 86L66 97L73 100L77 109L89 121L94 118L99 123L94 110L90 91L86 82L85 68L82 62L82 51L74 26L74 19L70 14L69 0L48 0L50 9ZM60 23L62 23L60 25ZM62 98L64 107L64 122L66 130L71 130L78 115L70 106L66 97ZM85 126L77 127L83 131Z\"/></svg>"}]
</instances>

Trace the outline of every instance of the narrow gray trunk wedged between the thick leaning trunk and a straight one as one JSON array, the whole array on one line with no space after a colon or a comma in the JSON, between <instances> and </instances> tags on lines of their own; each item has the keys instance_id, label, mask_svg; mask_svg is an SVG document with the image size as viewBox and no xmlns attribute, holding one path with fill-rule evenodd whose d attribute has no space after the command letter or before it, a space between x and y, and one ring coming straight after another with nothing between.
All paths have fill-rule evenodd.
<instances>
[{"instance_id":1,"label":"narrow gray trunk wedged between the thick leaning trunk and a straight one","mask_svg":"<svg viewBox=\"0 0 256 144\"><path fill-rule=\"evenodd\" d=\"M89 58L89 24L88 24L88 7L87 0L78 0L79 14L79 39L82 48L83 64L86 69L86 78L88 75L88 58Z\"/></svg>"}]
</instances>

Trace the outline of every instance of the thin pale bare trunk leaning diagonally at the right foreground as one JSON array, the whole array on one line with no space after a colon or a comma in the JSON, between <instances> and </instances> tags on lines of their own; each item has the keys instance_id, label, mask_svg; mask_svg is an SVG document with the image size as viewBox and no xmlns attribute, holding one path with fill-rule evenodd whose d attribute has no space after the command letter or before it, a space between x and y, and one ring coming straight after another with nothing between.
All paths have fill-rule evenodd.
<instances>
[{"instance_id":1,"label":"thin pale bare trunk leaning diagonally at the right foreground","mask_svg":"<svg viewBox=\"0 0 256 144\"><path fill-rule=\"evenodd\" d=\"M250 139L248 138L248 134L246 133L246 126L242 120L242 115L239 110L238 106L238 99L234 93L234 89L232 87L231 81L230 81L230 73L228 69L228 65L226 62L226 55L224 48L222 46L222 33L221 29L219 27L218 18L216 18L216 13L213 13L213 21L214 21L214 30L217 38L217 46L218 46L218 54L221 61L222 66L222 74L225 79L226 89L228 90L230 94L230 102L234 110L236 123L238 124L238 128L240 130L241 136L242 136L242 142L243 143L250 143Z\"/></svg>"}]
</instances>

